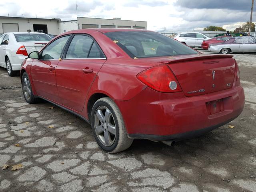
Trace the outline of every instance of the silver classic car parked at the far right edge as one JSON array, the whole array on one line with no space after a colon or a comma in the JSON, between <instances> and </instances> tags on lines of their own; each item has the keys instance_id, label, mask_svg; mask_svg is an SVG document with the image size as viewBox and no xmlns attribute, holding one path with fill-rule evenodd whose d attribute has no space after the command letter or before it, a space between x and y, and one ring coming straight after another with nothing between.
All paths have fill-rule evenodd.
<instances>
[{"instance_id":1,"label":"silver classic car parked at the far right edge","mask_svg":"<svg viewBox=\"0 0 256 192\"><path fill-rule=\"evenodd\" d=\"M250 36L232 37L225 42L210 45L208 50L222 54L256 52L256 41Z\"/></svg>"}]
</instances>

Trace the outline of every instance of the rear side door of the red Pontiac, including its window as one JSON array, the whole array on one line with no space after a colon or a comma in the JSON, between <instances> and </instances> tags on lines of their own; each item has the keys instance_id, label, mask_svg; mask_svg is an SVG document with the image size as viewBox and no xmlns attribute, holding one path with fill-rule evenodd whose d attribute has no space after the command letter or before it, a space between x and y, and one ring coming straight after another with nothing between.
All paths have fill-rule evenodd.
<instances>
[{"instance_id":1,"label":"rear side door of the red Pontiac, including its window","mask_svg":"<svg viewBox=\"0 0 256 192\"><path fill-rule=\"evenodd\" d=\"M62 105L80 112L88 90L106 58L88 35L76 34L66 47L56 69L56 84Z\"/></svg>"}]
</instances>

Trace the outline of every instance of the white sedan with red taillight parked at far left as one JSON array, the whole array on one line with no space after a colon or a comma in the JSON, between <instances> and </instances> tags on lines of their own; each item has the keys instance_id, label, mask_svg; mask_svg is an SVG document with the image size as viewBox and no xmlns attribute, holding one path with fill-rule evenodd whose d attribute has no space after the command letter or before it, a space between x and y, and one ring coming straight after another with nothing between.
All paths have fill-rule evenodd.
<instances>
[{"instance_id":1,"label":"white sedan with red taillight parked at far left","mask_svg":"<svg viewBox=\"0 0 256 192\"><path fill-rule=\"evenodd\" d=\"M38 32L12 32L0 36L0 66L14 76L30 52L40 50L52 38Z\"/></svg>"}]
</instances>

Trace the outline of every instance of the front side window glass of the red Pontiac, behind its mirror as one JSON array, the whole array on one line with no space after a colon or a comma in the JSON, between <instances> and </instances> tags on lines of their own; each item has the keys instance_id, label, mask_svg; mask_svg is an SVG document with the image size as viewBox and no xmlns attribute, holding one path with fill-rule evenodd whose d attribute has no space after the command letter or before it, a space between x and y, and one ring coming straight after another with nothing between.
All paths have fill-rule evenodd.
<instances>
[{"instance_id":1,"label":"front side window glass of the red Pontiac, behind its mirror","mask_svg":"<svg viewBox=\"0 0 256 192\"><path fill-rule=\"evenodd\" d=\"M56 39L54 42L51 42L40 54L41 60L52 60L52 59L59 59L62 50L68 41L70 36L64 36L61 38Z\"/></svg>"}]
</instances>

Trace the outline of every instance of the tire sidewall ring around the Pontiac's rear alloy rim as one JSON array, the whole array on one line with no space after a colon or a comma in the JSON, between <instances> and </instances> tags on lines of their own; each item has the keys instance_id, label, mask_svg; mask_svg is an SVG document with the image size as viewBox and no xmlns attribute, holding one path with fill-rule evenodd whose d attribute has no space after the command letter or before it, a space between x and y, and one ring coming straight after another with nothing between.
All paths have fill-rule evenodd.
<instances>
[{"instance_id":1,"label":"tire sidewall ring around the Pontiac's rear alloy rim","mask_svg":"<svg viewBox=\"0 0 256 192\"><path fill-rule=\"evenodd\" d=\"M100 140L99 140L99 138L98 138L98 136L97 136L97 134L96 134L96 131L95 131L94 116L95 116L96 110L97 110L98 107L100 107L100 106L105 106L105 107L107 107L107 108L110 110L110 112L111 112L111 114L112 114L112 116L113 116L113 118L114 118L114 121L115 121L115 125L116 125L116 138L115 138L114 143L113 143L111 146L104 146L104 145L100 142ZM98 145L99 145L104 151L106 151L106 152L112 152L112 151L114 151L114 150L116 149L117 145L118 145L118 142L119 142L119 123L120 123L120 122L118 122L118 118L116 117L116 113L114 112L114 110L113 110L112 106L110 106L110 104L108 104L108 103L105 102L105 101L98 101L98 102L96 102L96 103L94 104L94 106L92 107L92 113L91 113L92 132L93 132L93 134L94 134L94 137L95 137L96 142L98 143Z\"/></svg>"}]
</instances>

